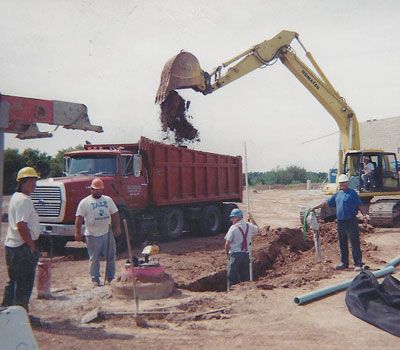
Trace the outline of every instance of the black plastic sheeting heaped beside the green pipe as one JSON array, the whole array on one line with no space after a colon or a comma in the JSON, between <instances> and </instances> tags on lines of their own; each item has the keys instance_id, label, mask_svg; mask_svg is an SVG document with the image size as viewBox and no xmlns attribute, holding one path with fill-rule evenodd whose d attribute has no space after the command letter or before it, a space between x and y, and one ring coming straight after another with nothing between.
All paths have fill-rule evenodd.
<instances>
[{"instance_id":1,"label":"black plastic sheeting heaped beside the green pipe","mask_svg":"<svg viewBox=\"0 0 400 350\"><path fill-rule=\"evenodd\" d=\"M400 337L400 281L391 275L381 284L369 271L361 271L346 292L350 313Z\"/></svg>"}]
</instances>

